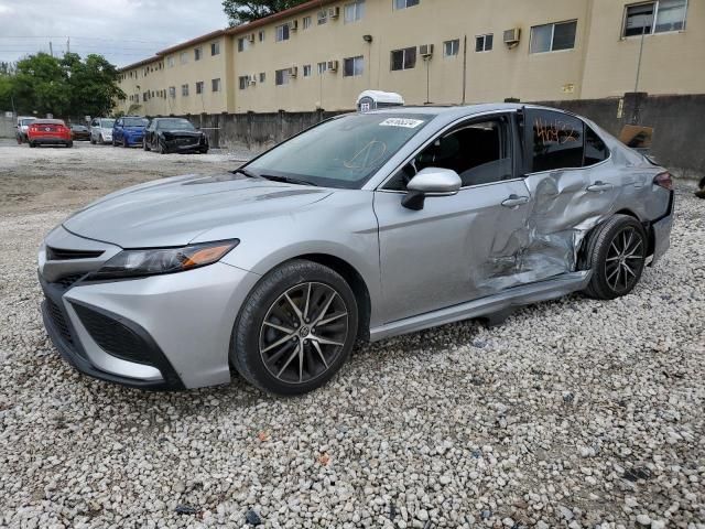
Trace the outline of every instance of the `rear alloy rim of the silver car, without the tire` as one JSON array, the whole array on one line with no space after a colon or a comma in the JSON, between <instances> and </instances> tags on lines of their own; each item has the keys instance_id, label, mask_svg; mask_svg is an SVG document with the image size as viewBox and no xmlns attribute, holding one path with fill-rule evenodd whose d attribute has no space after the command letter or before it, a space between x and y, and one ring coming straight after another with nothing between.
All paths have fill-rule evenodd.
<instances>
[{"instance_id":1,"label":"rear alloy rim of the silver car, without the tire","mask_svg":"<svg viewBox=\"0 0 705 529\"><path fill-rule=\"evenodd\" d=\"M614 292L630 290L638 280L644 258L643 237L628 226L617 231L605 259L605 278Z\"/></svg>"}]
</instances>

